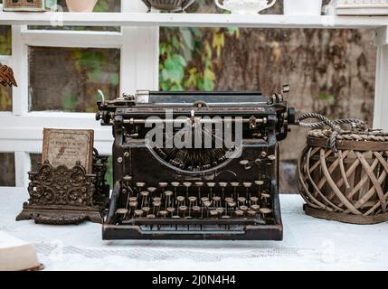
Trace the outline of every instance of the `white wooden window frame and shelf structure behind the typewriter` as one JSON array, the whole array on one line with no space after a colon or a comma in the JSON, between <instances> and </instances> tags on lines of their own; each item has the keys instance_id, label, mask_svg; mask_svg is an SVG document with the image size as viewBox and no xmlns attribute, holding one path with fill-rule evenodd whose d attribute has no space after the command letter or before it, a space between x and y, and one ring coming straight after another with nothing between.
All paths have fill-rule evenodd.
<instances>
[{"instance_id":1,"label":"white wooden window frame and shelf structure behind the typewriter","mask_svg":"<svg viewBox=\"0 0 388 289\"><path fill-rule=\"evenodd\" d=\"M0 56L14 68L13 112L0 113L0 152L15 152L16 185L26 185L30 153L42 147L43 127L89 128L102 154L111 153L111 131L92 114L29 112L28 46L118 48L120 91L158 89L158 26L281 29L369 29L375 33L377 70L374 127L388 129L388 16L288 16L279 14L156 14L140 1L121 1L121 13L3 13L0 25L12 25L13 55ZM121 26L119 33L28 30L27 25Z\"/></svg>"}]
</instances>

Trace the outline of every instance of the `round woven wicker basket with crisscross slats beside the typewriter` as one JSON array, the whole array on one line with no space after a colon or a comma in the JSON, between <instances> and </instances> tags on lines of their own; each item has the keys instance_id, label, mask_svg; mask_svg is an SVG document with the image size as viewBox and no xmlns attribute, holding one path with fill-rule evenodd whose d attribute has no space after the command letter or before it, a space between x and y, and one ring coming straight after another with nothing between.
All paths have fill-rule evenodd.
<instances>
[{"instance_id":1,"label":"round woven wicker basket with crisscross slats beside the typewriter","mask_svg":"<svg viewBox=\"0 0 388 289\"><path fill-rule=\"evenodd\" d=\"M298 160L298 189L310 216L353 224L388 220L388 134L332 129L309 132Z\"/></svg>"}]
</instances>

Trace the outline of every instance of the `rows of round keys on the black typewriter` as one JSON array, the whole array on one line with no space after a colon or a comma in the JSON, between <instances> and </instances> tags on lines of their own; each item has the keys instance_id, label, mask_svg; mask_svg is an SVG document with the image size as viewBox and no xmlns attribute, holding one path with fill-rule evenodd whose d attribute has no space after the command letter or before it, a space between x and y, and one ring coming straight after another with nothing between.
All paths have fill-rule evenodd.
<instances>
[{"instance_id":1,"label":"rows of round keys on the black typewriter","mask_svg":"<svg viewBox=\"0 0 388 289\"><path fill-rule=\"evenodd\" d=\"M128 219L260 219L272 218L271 195L263 181L159 182L149 187L136 182L123 186L125 208L118 221Z\"/></svg>"}]
</instances>

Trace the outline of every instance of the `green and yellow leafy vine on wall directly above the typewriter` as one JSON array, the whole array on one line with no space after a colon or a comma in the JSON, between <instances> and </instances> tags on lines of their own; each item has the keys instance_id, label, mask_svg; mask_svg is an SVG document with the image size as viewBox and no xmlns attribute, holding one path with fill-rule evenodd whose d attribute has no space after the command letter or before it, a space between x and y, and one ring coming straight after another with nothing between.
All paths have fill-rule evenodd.
<instances>
[{"instance_id":1,"label":"green and yellow leafy vine on wall directly above the typewriter","mask_svg":"<svg viewBox=\"0 0 388 289\"><path fill-rule=\"evenodd\" d=\"M220 63L228 37L239 38L237 28L163 28L159 86L168 90L213 90L214 69Z\"/></svg>"}]
</instances>

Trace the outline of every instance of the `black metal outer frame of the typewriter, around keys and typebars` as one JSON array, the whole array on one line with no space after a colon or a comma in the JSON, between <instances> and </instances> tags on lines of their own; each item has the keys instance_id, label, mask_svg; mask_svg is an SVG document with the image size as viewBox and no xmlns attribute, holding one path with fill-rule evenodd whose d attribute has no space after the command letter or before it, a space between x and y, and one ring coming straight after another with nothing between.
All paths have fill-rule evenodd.
<instances>
[{"instance_id":1,"label":"black metal outer frame of the typewriter, around keys and typebars","mask_svg":"<svg viewBox=\"0 0 388 289\"><path fill-rule=\"evenodd\" d=\"M270 185L270 202L272 208L273 222L272 224L262 224L258 219L128 219L119 220L116 211L122 189L126 188L126 182L133 182L132 177L129 181L123 179L126 173L123 171L122 163L125 155L128 156L130 148L143 147L141 139L131 139L130 144L123 143L123 126L126 125L142 125L147 116L157 116L159 113L164 113L167 106L174 106L178 112L175 116L180 116L179 111L182 111L182 116L187 116L187 108L193 104L187 103L139 103L139 98L148 98L153 95L158 99L164 97L182 97L187 96L194 98L203 96L214 97L221 99L218 103L206 103L206 107L196 109L196 116L208 116L209 114L225 115L225 116L243 116L244 123L266 126L268 130L267 142L260 140L247 139L243 141L243 145L251 146L254 150L265 151L267 155L274 156L270 161L270 173L267 175ZM113 135L115 143L113 144L113 160L114 160L114 189L110 198L109 213L103 224L102 237L103 239L251 239L251 240L281 240L283 238L283 227L279 207L279 145L278 140L282 140L287 136L288 125L293 120L293 109L287 106L283 101L283 94L275 94L271 98L265 98L266 101L233 103L222 102L222 96L240 95L240 96L261 96L260 92L213 92L213 93L164 93L164 92L140 92L135 97L124 96L114 101L105 102L103 99L99 102L99 113L97 119L101 119L101 124L104 126L113 126ZM261 99L262 100L262 99ZM150 101L152 102L152 101ZM246 111L244 108L246 107ZM257 117L252 123L252 107L256 107L255 114L262 114L263 117ZM182 109L181 109L182 108ZM198 108L198 107L197 107ZM220 109L221 108L221 109ZM246 115L245 115L246 112ZM133 116L129 117L128 115ZM283 117L281 121L279 117ZM154 155L155 157L155 155ZM133 160L131 159L133 162ZM124 160L125 162L125 160ZM267 162L267 161L265 161ZM260 165L266 165L260 164ZM258 164L259 166L259 164ZM175 169L175 179L180 177L185 180L185 177L191 173L195 176L204 176L206 173L212 172L179 172ZM180 176L180 177L179 177ZM121 200L122 201L122 200ZM216 229L211 229L211 228ZM162 228L162 229L161 229ZM205 229L203 229L205 228Z\"/></svg>"}]
</instances>

